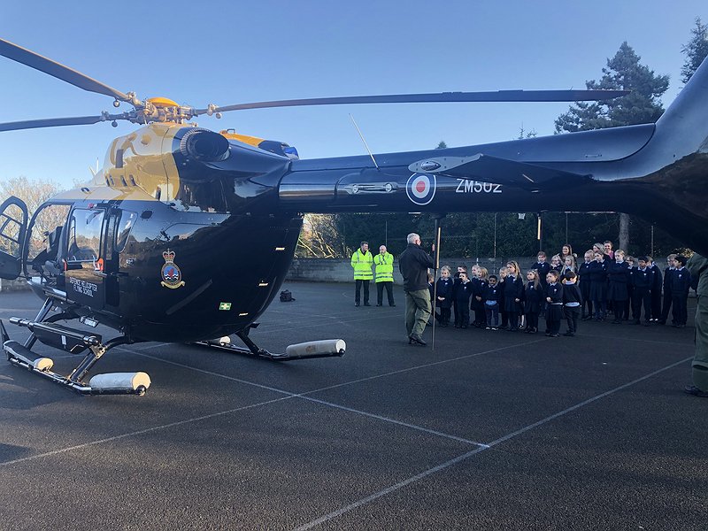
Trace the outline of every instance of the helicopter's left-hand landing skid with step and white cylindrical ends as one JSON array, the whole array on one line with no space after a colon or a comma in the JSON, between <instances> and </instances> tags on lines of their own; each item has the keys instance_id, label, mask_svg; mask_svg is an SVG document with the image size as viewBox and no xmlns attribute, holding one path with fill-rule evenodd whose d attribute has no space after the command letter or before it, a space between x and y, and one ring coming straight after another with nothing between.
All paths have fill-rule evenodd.
<instances>
[{"instance_id":1,"label":"helicopter's left-hand landing skid with step and white cylindrical ends","mask_svg":"<svg viewBox=\"0 0 708 531\"><path fill-rule=\"evenodd\" d=\"M81 330L55 324L58 316L47 318L52 304L50 299L42 306L34 321L12 317L10 322L19 327L27 327L32 334L25 344L12 341L7 334L2 321L0 321L0 335L2 335L3 350L7 360L14 366L27 369L42 378L58 383L66 388L73 389L81 395L139 395L145 394L150 387L150 376L146 373L107 373L96 374L88 383L83 380L96 362L106 352L118 345L132 342L126 336L113 338L103 342L101 335L87 334ZM62 316L63 314L59 314ZM66 316L69 317L69 316ZM54 361L51 358L35 353L32 346L39 340L45 344L78 354L88 350L71 373L67 376L52 372Z\"/></svg>"}]
</instances>

